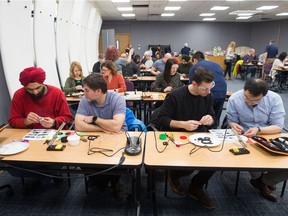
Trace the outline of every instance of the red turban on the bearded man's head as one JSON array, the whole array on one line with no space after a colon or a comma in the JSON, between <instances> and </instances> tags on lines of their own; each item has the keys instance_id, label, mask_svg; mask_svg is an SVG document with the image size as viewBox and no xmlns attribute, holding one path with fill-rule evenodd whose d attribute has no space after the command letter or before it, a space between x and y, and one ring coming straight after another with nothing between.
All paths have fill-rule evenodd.
<instances>
[{"instance_id":1,"label":"red turban on the bearded man's head","mask_svg":"<svg viewBox=\"0 0 288 216\"><path fill-rule=\"evenodd\" d=\"M20 73L19 81L23 86L27 86L31 82L37 82L43 84L46 78L46 73L42 68L29 67L25 68Z\"/></svg>"}]
</instances>

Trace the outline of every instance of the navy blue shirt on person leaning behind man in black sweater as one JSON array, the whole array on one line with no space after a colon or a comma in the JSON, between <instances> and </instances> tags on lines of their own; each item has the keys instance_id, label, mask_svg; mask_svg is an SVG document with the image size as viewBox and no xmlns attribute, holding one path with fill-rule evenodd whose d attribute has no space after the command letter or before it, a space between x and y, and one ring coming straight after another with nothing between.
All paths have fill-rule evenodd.
<instances>
[{"instance_id":1,"label":"navy blue shirt on person leaning behind man in black sweater","mask_svg":"<svg viewBox=\"0 0 288 216\"><path fill-rule=\"evenodd\" d=\"M223 71L219 64L207 60L199 60L197 64L193 65L189 70L189 84L192 83L192 77L198 67L203 67L210 70L214 76L215 86L211 89L214 99L222 99L226 97L227 83L224 80Z\"/></svg>"}]
</instances>

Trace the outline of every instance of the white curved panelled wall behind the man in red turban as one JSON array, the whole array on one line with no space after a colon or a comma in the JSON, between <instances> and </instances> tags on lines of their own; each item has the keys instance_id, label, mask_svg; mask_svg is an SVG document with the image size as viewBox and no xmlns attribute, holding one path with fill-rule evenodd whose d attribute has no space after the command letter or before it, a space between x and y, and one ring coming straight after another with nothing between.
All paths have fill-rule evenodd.
<instances>
[{"instance_id":1,"label":"white curved panelled wall behind the man in red turban","mask_svg":"<svg viewBox=\"0 0 288 216\"><path fill-rule=\"evenodd\" d=\"M37 66L46 71L47 84L63 86L73 60L80 61L88 74L98 56L101 24L99 13L88 0L1 0L0 85L7 83L12 97L22 87L19 73ZM10 104L8 98L1 101L1 112ZM8 116L1 113L0 122L7 122Z\"/></svg>"}]
</instances>

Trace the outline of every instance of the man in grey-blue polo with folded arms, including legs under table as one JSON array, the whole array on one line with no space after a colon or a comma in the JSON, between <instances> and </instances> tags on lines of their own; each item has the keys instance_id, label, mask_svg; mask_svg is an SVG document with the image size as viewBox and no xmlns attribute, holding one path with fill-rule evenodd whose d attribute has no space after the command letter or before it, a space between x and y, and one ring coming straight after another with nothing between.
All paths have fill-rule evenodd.
<instances>
[{"instance_id":1,"label":"man in grey-blue polo with folded arms, including legs under table","mask_svg":"<svg viewBox=\"0 0 288 216\"><path fill-rule=\"evenodd\" d=\"M111 61L109 62L113 65ZM124 97L115 92L107 91L107 83L101 74L88 75L83 84L84 96L75 116L75 129L77 131L102 131L105 133L127 131ZM89 168L91 169L91 167ZM95 172L97 171L99 170L95 169ZM88 180L88 186L97 186L99 190L104 190L111 183L116 198L123 201L125 193L124 187L120 183L120 177L120 175L91 176Z\"/></svg>"}]
</instances>

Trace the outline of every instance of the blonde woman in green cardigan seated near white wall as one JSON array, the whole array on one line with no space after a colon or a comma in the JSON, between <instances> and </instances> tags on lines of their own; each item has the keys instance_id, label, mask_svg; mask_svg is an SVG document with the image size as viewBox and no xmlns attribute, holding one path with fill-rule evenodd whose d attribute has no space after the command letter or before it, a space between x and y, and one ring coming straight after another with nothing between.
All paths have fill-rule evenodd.
<instances>
[{"instance_id":1,"label":"blonde woman in green cardigan seated near white wall","mask_svg":"<svg viewBox=\"0 0 288 216\"><path fill-rule=\"evenodd\" d=\"M73 61L70 65L69 77L66 79L65 86L63 88L64 93L70 94L74 92L83 91L82 81L85 77L80 63Z\"/></svg>"}]
</instances>

